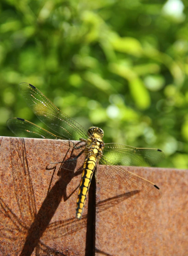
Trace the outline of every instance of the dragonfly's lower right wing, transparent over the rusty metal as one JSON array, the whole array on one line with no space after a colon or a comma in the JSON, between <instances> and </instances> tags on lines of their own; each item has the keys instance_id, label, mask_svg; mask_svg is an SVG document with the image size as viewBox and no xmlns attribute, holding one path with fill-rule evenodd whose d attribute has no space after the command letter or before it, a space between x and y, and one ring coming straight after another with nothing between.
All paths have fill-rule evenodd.
<instances>
[{"instance_id":1,"label":"dragonfly's lower right wing, transparent over the rusty metal","mask_svg":"<svg viewBox=\"0 0 188 256\"><path fill-rule=\"evenodd\" d=\"M101 158L97 166L96 182L113 195L130 193L130 197L157 200L162 197L161 190L152 182L128 172L125 167L111 165L110 160Z\"/></svg>"}]
</instances>

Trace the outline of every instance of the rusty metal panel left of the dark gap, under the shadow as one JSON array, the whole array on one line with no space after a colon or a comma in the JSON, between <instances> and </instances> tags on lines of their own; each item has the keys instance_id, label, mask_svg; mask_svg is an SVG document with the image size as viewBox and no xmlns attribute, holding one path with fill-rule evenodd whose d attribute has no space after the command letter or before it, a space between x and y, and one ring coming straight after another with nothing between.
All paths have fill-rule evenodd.
<instances>
[{"instance_id":1,"label":"rusty metal panel left of the dark gap, under the shadow","mask_svg":"<svg viewBox=\"0 0 188 256\"><path fill-rule=\"evenodd\" d=\"M85 255L87 203L75 219L81 172L48 166L70 156L69 148L56 140L0 142L0 255Z\"/></svg>"}]
</instances>

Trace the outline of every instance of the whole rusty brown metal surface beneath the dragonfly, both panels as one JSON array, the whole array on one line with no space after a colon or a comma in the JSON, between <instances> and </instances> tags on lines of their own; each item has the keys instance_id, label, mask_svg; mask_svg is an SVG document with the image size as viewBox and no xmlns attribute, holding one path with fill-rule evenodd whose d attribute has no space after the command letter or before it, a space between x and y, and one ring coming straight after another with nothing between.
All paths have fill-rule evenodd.
<instances>
[{"instance_id":1,"label":"whole rusty brown metal surface beneath the dragonfly, both panels","mask_svg":"<svg viewBox=\"0 0 188 256\"><path fill-rule=\"evenodd\" d=\"M83 157L52 164L75 156L69 146L0 137L0 256L186 255L188 171L127 167L159 186L162 199L113 196L97 184L76 220Z\"/></svg>"}]
</instances>

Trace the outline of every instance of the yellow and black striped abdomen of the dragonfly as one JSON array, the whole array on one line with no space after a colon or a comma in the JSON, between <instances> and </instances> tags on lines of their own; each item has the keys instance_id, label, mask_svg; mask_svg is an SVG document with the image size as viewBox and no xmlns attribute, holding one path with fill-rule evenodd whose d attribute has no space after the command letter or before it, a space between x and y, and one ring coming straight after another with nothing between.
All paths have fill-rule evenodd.
<instances>
[{"instance_id":1,"label":"yellow and black striped abdomen of the dragonfly","mask_svg":"<svg viewBox=\"0 0 188 256\"><path fill-rule=\"evenodd\" d=\"M95 156L91 155L85 159L84 165L83 165L82 178L80 182L80 188L78 192L78 199L77 199L76 218L78 219L82 217L82 211L85 205L85 200L90 187L95 166L96 166Z\"/></svg>"}]
</instances>

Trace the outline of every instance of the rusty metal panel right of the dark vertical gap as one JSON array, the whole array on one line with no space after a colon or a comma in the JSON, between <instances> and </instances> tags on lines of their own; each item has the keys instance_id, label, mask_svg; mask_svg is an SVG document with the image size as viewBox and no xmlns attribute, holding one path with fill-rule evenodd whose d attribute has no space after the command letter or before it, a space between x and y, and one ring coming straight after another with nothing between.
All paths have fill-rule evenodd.
<instances>
[{"instance_id":1,"label":"rusty metal panel right of the dark vertical gap","mask_svg":"<svg viewBox=\"0 0 188 256\"><path fill-rule=\"evenodd\" d=\"M188 255L188 170L127 170L155 183L163 196L113 197L97 185L95 255Z\"/></svg>"}]
</instances>

